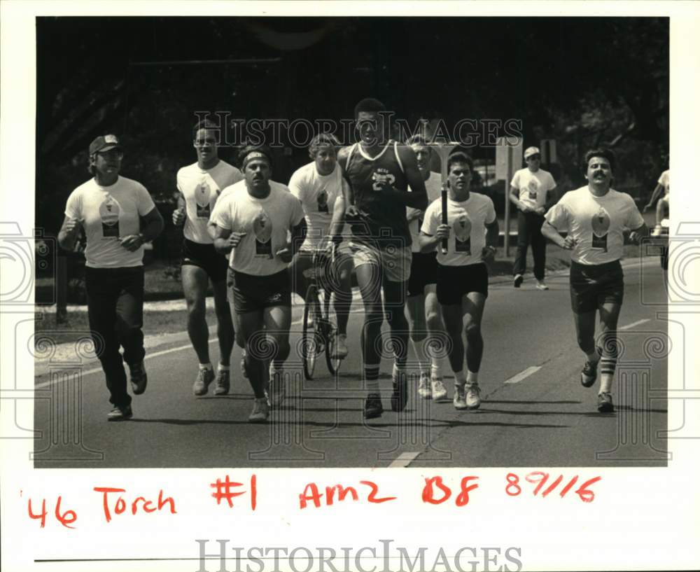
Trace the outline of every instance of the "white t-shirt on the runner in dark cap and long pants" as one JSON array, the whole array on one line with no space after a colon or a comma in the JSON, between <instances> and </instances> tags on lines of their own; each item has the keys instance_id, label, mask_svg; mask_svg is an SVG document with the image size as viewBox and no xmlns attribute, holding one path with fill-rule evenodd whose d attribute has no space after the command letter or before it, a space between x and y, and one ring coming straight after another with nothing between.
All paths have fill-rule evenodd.
<instances>
[{"instance_id":1,"label":"white t-shirt on the runner in dark cap and long pants","mask_svg":"<svg viewBox=\"0 0 700 572\"><path fill-rule=\"evenodd\" d=\"M82 221L87 237L85 265L90 268L120 268L141 266L144 247L130 252L121 239L139 234L139 216L155 208L146 187L118 177L109 187L99 186L90 179L68 197L66 216Z\"/></svg>"}]
</instances>

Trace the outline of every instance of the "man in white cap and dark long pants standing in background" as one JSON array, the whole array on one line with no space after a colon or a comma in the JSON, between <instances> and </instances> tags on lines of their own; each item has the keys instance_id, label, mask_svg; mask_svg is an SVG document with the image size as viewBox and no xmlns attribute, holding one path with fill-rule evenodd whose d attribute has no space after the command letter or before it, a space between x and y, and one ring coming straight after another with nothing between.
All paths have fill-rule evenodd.
<instances>
[{"instance_id":1,"label":"man in white cap and dark long pants standing in background","mask_svg":"<svg viewBox=\"0 0 700 572\"><path fill-rule=\"evenodd\" d=\"M513 264L513 286L520 288L525 274L527 247L532 244L533 274L538 290L548 290L545 284L545 251L547 241L540 229L545 212L556 197L556 183L549 172L540 169L540 150L528 147L524 158L527 167L515 172L510 182L510 202L518 208L518 247Z\"/></svg>"}]
</instances>

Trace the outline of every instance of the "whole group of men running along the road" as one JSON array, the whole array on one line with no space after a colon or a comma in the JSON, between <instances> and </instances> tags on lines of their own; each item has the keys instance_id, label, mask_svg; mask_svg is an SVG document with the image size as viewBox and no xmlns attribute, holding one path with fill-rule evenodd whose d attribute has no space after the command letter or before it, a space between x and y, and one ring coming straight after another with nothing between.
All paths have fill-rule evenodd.
<instances>
[{"instance_id":1,"label":"whole group of men running along the road","mask_svg":"<svg viewBox=\"0 0 700 572\"><path fill-rule=\"evenodd\" d=\"M449 155L443 183L430 170L428 141L420 135L405 143L389 139L385 116L386 108L377 99L360 101L354 110L358 143L341 148L332 134L318 134L309 147L311 162L297 169L288 186L272 181L269 148L241 149L239 170L218 157L218 127L195 126L197 162L177 174L173 222L183 225L181 277L188 333L199 361L196 396L206 394L211 384L216 395L228 393L230 356L237 343L254 393L248 420L264 422L269 408L281 405L286 393L283 364L290 353L291 293L304 297L313 254L321 249L332 261L329 287L335 295L337 337L328 351L336 358L348 354L353 273L363 300L365 419L384 412L379 391L384 320L393 353L393 411L406 407L413 375L419 379L420 398L449 401L442 378L444 354L454 375L454 407L479 407L481 323L488 297L487 263L498 244L496 211L489 197L470 191L474 165L467 154L457 150ZM586 356L581 383L596 382L600 361L598 410L610 412L614 338L624 291L619 265L623 232L631 231L631 239L638 240L647 229L631 197L610 188L615 160L609 151L587 153L588 185L566 193L556 204L551 176L536 173L538 149L528 148L525 155L531 175L514 178L511 200L523 207L528 225L524 236L540 233L537 255L533 243L533 255L539 257L538 287L546 289L539 253L547 237L572 251L571 303ZM123 361L130 367L133 393L146 389L143 244L158 236L163 222L146 189L119 175L123 151L117 137L95 139L89 156L93 178L71 193L59 243L72 248L78 228L85 229L90 329L113 405L108 419L118 421L133 415ZM441 200L443 190L446 202ZM524 253L514 270L515 286L523 271ZM220 350L216 372L205 319L210 280ZM601 321L598 343L596 312ZM418 371L407 371L409 339Z\"/></svg>"}]
</instances>

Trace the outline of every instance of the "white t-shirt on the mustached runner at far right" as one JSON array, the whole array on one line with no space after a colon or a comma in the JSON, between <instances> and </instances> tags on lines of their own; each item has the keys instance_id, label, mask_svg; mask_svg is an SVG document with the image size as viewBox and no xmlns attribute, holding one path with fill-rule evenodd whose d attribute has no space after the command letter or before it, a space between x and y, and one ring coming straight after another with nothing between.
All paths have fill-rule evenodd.
<instances>
[{"instance_id":1,"label":"white t-shirt on the mustached runner at far right","mask_svg":"<svg viewBox=\"0 0 700 572\"><path fill-rule=\"evenodd\" d=\"M612 188L596 197L588 186L566 193L547 211L545 220L578 240L571 260L587 265L622 258L622 232L644 224L632 197Z\"/></svg>"}]
</instances>

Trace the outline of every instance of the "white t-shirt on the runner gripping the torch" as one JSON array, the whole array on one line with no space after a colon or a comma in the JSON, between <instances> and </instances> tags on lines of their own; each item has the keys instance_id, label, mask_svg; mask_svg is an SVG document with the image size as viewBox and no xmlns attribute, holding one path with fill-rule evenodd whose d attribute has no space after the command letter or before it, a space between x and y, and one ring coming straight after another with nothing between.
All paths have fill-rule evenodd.
<instances>
[{"instance_id":1,"label":"white t-shirt on the runner gripping the torch","mask_svg":"<svg viewBox=\"0 0 700 572\"><path fill-rule=\"evenodd\" d=\"M496 209L486 195L469 193L468 200L447 198L447 224L451 227L447 254L437 247L437 262L443 266L468 266L482 262L481 251L486 246L486 225L496 220ZM442 200L428 205L421 226L424 235L435 236L442 224Z\"/></svg>"}]
</instances>

